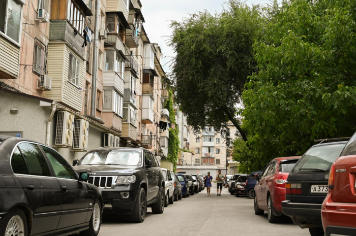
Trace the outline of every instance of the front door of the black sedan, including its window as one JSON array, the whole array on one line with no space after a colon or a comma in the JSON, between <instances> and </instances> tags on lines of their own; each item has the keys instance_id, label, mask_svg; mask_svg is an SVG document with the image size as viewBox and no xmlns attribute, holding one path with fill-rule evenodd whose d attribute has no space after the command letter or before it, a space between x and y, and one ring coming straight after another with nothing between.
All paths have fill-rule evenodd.
<instances>
[{"instance_id":1,"label":"front door of the black sedan, including its window","mask_svg":"<svg viewBox=\"0 0 356 236\"><path fill-rule=\"evenodd\" d=\"M42 146L53 173L62 190L61 219L57 229L85 223L90 209L89 192L84 182L78 181L78 176L71 165L56 151ZM93 203L91 203L93 207ZM90 212L92 209L90 209Z\"/></svg>"}]
</instances>

